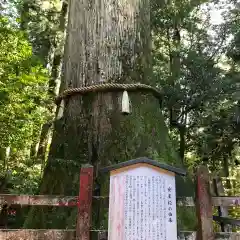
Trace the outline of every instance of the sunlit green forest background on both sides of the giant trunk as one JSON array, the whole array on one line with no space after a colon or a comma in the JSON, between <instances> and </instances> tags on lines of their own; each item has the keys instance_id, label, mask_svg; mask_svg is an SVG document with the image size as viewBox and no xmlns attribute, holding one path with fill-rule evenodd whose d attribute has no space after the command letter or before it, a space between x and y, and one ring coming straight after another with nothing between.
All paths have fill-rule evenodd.
<instances>
[{"instance_id":1,"label":"sunlit green forest background on both sides of the giant trunk","mask_svg":"<svg viewBox=\"0 0 240 240\"><path fill-rule=\"evenodd\" d=\"M179 190L180 195L192 195L189 179L201 164L207 164L215 175L239 179L239 2L151 0L150 6L152 73L148 83L164 94L163 118L149 114L148 122L167 128L156 128L156 134L150 131L145 137L155 134L153 140L166 145L162 149L168 157L154 149L149 150L151 156L187 168L188 180L181 184L188 187ZM62 81L68 1L5 0L0 3L0 13L0 192L66 193L66 187L59 185L67 178L65 165L51 179L44 172L51 156L58 155L51 153L50 146L57 121L54 99ZM169 137L161 137L166 134ZM118 137L124 141L126 136L120 133ZM127 151L136 144L129 142ZM65 155L65 160L73 158ZM121 161L119 158L110 162ZM76 167L76 161L74 164ZM58 165L56 168L59 170ZM71 174L72 168L67 169ZM70 191L70 195L76 193L77 187ZM239 195L240 186L231 182L228 193ZM73 212L55 217L52 213L47 221L33 221L34 211L45 210L18 209L17 221L11 227L61 228L75 224ZM237 209L231 214L240 216ZM185 216L182 225L194 225L191 218L191 214Z\"/></svg>"}]
</instances>

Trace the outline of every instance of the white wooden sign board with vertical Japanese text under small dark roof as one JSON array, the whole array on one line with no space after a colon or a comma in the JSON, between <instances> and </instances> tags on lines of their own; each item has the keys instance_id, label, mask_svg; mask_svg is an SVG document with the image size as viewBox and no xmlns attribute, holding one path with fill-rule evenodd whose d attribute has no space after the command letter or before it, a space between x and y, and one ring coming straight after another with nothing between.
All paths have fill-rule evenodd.
<instances>
[{"instance_id":1,"label":"white wooden sign board with vertical Japanese text under small dark roof","mask_svg":"<svg viewBox=\"0 0 240 240\"><path fill-rule=\"evenodd\" d=\"M177 240L175 172L147 162L110 170L108 240Z\"/></svg>"}]
</instances>

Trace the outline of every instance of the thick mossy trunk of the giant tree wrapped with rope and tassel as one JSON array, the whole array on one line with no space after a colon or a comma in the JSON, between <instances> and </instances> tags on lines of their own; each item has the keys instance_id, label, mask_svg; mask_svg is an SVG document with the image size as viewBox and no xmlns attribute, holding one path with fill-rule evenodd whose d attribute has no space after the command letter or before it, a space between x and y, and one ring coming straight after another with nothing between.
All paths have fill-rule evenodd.
<instances>
[{"instance_id":1,"label":"thick mossy trunk of the giant tree wrapped with rope and tassel","mask_svg":"<svg viewBox=\"0 0 240 240\"><path fill-rule=\"evenodd\" d=\"M150 83L150 44L149 0L71 0L61 91L100 84L100 72L105 82ZM65 101L63 118L55 122L41 194L77 195L80 166L87 162L97 177L100 166L140 156L178 161L158 100L151 94L130 94L132 113L125 116L121 96L91 93ZM36 222L36 214L33 209L26 226L47 227ZM61 221L52 215L51 227L74 225L72 213L69 218L66 214Z\"/></svg>"}]
</instances>

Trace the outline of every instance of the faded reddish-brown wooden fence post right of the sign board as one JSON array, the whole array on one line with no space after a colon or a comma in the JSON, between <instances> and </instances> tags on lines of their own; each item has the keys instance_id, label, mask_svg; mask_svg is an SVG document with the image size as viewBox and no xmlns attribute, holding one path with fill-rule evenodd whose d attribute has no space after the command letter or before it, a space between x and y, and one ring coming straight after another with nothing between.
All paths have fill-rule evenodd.
<instances>
[{"instance_id":1,"label":"faded reddish-brown wooden fence post right of the sign board","mask_svg":"<svg viewBox=\"0 0 240 240\"><path fill-rule=\"evenodd\" d=\"M205 166L197 170L196 211L198 216L197 240L213 240L213 209L209 173Z\"/></svg>"}]
</instances>

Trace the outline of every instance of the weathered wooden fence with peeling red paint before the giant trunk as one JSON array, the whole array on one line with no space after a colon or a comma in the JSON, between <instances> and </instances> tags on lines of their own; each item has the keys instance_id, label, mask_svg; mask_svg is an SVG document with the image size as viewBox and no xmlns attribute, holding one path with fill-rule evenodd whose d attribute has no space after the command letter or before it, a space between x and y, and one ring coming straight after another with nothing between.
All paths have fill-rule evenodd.
<instances>
[{"instance_id":1,"label":"weathered wooden fence with peeling red paint before the giant trunk","mask_svg":"<svg viewBox=\"0 0 240 240\"><path fill-rule=\"evenodd\" d=\"M218 180L213 180L216 186ZM217 188L219 189L219 188ZM76 206L78 207L77 227L73 230L47 229L0 229L0 240L106 240L107 231L91 230L92 201L101 201L108 206L108 197L92 196L93 167L83 166L80 172L80 191L77 197L68 196L27 196L0 195L0 206L3 204L32 205L32 206ZM226 216L228 207L240 206L239 197L212 196L210 175L206 167L199 167L196 176L196 201L192 197L177 198L177 205L196 207L198 217L197 232L179 232L179 240L240 240L240 233L225 232L226 226L240 226L240 220ZM216 192L216 191L215 191ZM221 195L219 192L215 195ZM213 216L213 206L219 208L219 216ZM225 212L224 212L225 209ZM224 214L225 215L224 215ZM213 220L221 224L222 232L214 233Z\"/></svg>"}]
</instances>

